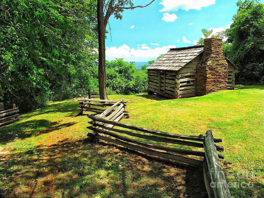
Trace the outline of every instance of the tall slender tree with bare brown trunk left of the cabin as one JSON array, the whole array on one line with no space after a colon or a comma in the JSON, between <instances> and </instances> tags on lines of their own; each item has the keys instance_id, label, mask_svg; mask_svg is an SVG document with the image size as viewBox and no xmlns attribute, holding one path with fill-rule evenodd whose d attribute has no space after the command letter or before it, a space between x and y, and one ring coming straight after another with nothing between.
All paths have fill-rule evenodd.
<instances>
[{"instance_id":1,"label":"tall slender tree with bare brown trunk left of the cabin","mask_svg":"<svg viewBox=\"0 0 264 198\"><path fill-rule=\"evenodd\" d=\"M121 13L125 9L144 8L144 6L134 6L133 0L97 0L97 23L98 23L98 79L100 99L108 99L106 92L106 70L105 70L105 34L109 17L114 14L116 19L122 19Z\"/></svg>"}]
</instances>

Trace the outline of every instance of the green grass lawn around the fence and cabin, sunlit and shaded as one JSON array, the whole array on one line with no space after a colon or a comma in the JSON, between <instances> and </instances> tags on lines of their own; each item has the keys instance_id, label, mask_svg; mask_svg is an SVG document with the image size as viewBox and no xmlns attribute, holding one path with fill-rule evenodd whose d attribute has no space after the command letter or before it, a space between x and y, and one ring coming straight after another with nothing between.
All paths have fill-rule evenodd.
<instances>
[{"instance_id":1,"label":"green grass lawn around the fence and cabin, sunlit and shaded","mask_svg":"<svg viewBox=\"0 0 264 198\"><path fill-rule=\"evenodd\" d=\"M232 197L264 197L263 86L175 100L109 96L121 98L130 115L123 123L185 135L211 128L223 139L218 144ZM76 100L53 102L0 128L0 146L11 150L9 160L0 160L3 197L207 197L201 169L87 142L89 119L73 117L78 106Z\"/></svg>"}]
</instances>

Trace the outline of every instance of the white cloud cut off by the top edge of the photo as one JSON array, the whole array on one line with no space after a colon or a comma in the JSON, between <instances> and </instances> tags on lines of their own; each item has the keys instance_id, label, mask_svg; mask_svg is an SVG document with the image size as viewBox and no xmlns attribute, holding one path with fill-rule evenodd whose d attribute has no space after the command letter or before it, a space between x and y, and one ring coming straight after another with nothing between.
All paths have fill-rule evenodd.
<instances>
[{"instance_id":1,"label":"white cloud cut off by the top edge of the photo","mask_svg":"<svg viewBox=\"0 0 264 198\"><path fill-rule=\"evenodd\" d=\"M179 9L188 11L191 9L201 10L202 7L215 4L215 0L162 0L160 4L163 5L161 12L178 11Z\"/></svg>"}]
</instances>

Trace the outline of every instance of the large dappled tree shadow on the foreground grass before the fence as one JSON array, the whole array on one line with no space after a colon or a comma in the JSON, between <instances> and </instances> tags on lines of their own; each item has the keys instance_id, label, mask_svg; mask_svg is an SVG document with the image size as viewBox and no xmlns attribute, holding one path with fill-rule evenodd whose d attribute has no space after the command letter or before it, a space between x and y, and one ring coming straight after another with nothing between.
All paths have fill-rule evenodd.
<instances>
[{"instance_id":1,"label":"large dappled tree shadow on the foreground grass before the fence","mask_svg":"<svg viewBox=\"0 0 264 198\"><path fill-rule=\"evenodd\" d=\"M7 197L206 197L202 169L103 142L36 147L1 167Z\"/></svg>"}]
</instances>

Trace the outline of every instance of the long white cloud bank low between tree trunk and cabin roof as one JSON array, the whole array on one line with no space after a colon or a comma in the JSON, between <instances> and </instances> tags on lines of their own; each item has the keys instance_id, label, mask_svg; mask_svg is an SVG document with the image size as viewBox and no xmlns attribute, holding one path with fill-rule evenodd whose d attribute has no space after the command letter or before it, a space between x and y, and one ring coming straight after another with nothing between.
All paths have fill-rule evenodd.
<instances>
[{"instance_id":1,"label":"long white cloud bank low between tree trunk and cabin roof","mask_svg":"<svg viewBox=\"0 0 264 198\"><path fill-rule=\"evenodd\" d=\"M106 49L106 59L115 60L123 58L125 61L149 61L154 60L161 54L166 53L170 48L175 48L175 45L157 47L154 49L134 49L124 44L120 47L110 47Z\"/></svg>"}]
</instances>

